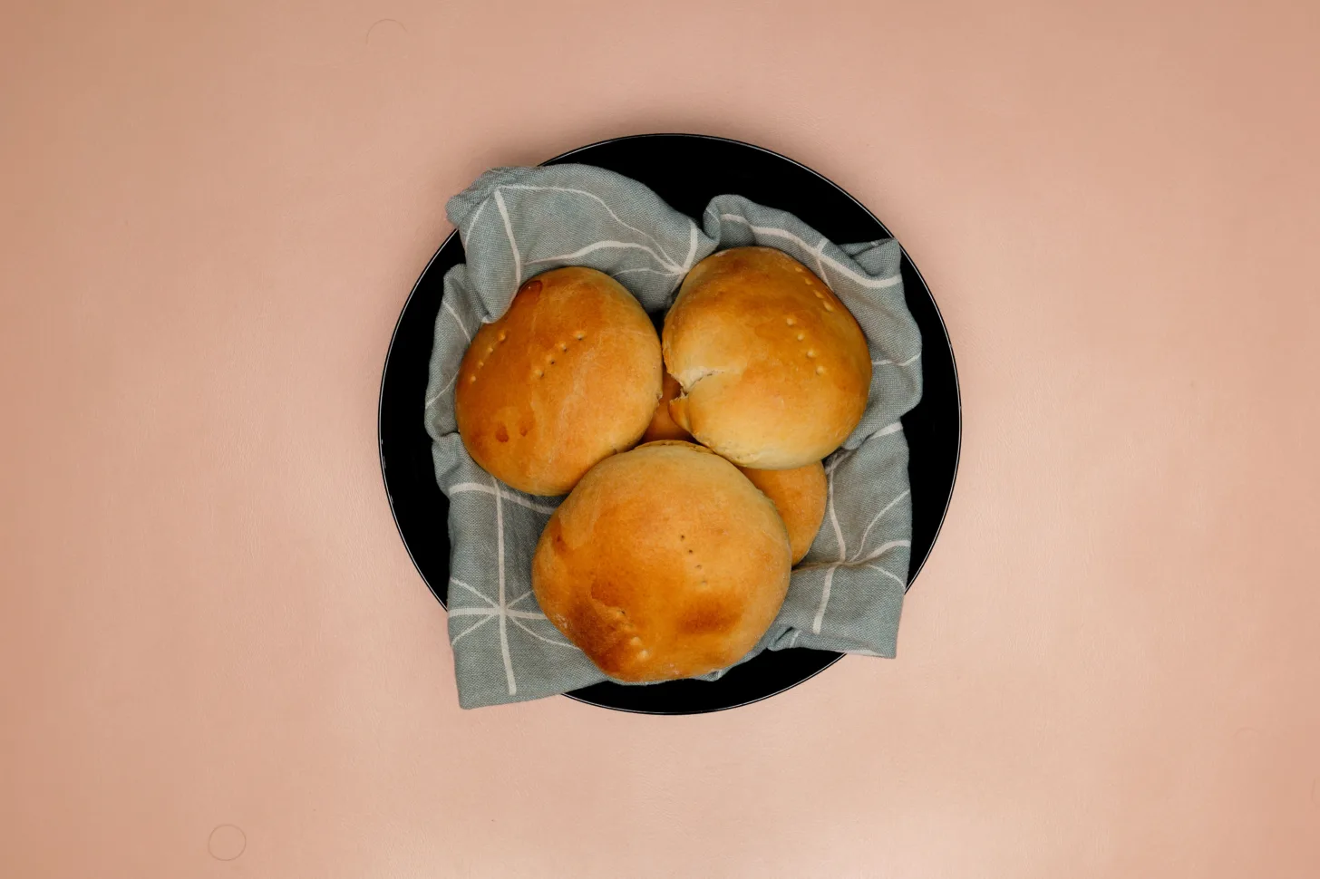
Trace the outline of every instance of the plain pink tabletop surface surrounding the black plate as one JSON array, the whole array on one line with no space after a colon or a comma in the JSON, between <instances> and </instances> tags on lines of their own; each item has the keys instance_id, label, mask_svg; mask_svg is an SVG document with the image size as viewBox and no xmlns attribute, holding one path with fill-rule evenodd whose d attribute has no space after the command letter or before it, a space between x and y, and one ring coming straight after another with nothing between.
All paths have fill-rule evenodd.
<instances>
[{"instance_id":1,"label":"plain pink tabletop surface surrounding the black plate","mask_svg":"<svg viewBox=\"0 0 1320 879\"><path fill-rule=\"evenodd\" d=\"M0 874L1320 875L1320 13L982 5L5 4ZM890 224L954 504L894 661L462 713L389 333L449 194L647 131Z\"/></svg>"}]
</instances>

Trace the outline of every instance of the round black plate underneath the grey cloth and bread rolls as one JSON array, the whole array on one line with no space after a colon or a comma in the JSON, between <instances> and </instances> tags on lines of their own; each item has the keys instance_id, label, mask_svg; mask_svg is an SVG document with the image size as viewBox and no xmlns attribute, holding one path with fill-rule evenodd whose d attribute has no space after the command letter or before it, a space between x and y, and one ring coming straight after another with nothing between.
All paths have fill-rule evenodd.
<instances>
[{"instance_id":1,"label":"round black plate underneath the grey cloth and bread rolls","mask_svg":"<svg viewBox=\"0 0 1320 879\"><path fill-rule=\"evenodd\" d=\"M545 162L597 165L642 181L700 223L715 195L744 195L800 216L834 242L869 242L890 232L842 189L805 165L760 146L702 135L638 135L606 140ZM430 437L422 424L432 334L445 272L463 261L450 235L426 264L395 326L380 383L380 469L395 524L418 573L444 604L449 590L449 502L436 484ZM949 335L920 272L903 253L903 289L921 329L921 403L903 417L912 483L912 561L908 589L940 532L953 494L962 430L958 379ZM698 714L781 693L838 661L841 653L764 651L718 681L651 686L595 684L568 696L622 711Z\"/></svg>"}]
</instances>

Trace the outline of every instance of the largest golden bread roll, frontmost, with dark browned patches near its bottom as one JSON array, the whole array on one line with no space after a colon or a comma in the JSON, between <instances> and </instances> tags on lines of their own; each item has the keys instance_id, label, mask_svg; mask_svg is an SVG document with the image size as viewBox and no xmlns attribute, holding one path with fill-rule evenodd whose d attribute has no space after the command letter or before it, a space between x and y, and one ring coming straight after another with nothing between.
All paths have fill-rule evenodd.
<instances>
[{"instance_id":1,"label":"largest golden bread roll, frontmost, with dark browned patches near its bottom","mask_svg":"<svg viewBox=\"0 0 1320 879\"><path fill-rule=\"evenodd\" d=\"M554 511L532 558L541 610L620 681L705 674L742 659L788 593L775 505L690 442L602 461Z\"/></svg>"}]
</instances>

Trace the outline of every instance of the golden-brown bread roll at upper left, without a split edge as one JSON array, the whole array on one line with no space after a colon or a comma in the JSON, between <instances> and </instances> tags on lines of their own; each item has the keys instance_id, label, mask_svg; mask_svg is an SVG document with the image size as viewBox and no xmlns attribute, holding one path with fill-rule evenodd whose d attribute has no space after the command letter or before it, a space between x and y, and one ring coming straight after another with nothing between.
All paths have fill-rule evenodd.
<instances>
[{"instance_id":1,"label":"golden-brown bread roll at upper left, without a split edge","mask_svg":"<svg viewBox=\"0 0 1320 879\"><path fill-rule=\"evenodd\" d=\"M655 327L623 285L595 269L553 269L473 338L454 392L458 433L495 478L562 495L638 441L661 372Z\"/></svg>"}]
</instances>

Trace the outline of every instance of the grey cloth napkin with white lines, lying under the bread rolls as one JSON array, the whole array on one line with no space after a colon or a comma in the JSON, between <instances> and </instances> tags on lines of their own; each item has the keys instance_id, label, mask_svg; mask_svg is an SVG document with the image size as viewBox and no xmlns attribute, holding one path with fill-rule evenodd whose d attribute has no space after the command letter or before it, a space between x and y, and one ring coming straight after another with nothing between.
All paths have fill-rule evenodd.
<instances>
[{"instance_id":1,"label":"grey cloth napkin with white lines, lying under the bread rolls","mask_svg":"<svg viewBox=\"0 0 1320 879\"><path fill-rule=\"evenodd\" d=\"M789 647L894 656L912 536L899 417L921 397L921 335L903 302L898 242L834 244L792 214L739 195L711 199L698 227L642 183L589 165L498 168L446 207L467 263L445 275L425 417L436 480L450 502L449 640L459 703L535 700L606 680L532 594L532 553L561 499L498 482L458 437L454 379L473 334L504 313L523 281L561 265L606 272L648 313L663 314L697 261L747 244L781 249L829 284L861 323L874 367L862 422L825 462L825 523L746 659Z\"/></svg>"}]
</instances>

